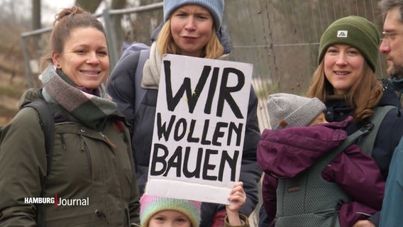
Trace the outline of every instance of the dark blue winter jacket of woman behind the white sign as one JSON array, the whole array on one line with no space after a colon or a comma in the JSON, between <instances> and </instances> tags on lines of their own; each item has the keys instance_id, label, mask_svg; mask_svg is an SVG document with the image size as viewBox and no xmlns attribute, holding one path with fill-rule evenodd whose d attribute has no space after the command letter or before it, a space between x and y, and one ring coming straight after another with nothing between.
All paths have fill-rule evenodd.
<instances>
[{"instance_id":1,"label":"dark blue winter jacket of woman behind the white sign","mask_svg":"<svg viewBox=\"0 0 403 227\"><path fill-rule=\"evenodd\" d=\"M162 24L153 32L151 40L156 39L161 27ZM231 52L231 45L225 33L220 30L217 36L219 37L221 45L224 47L224 54ZM108 92L118 104L118 110L126 116L128 123L132 126L132 148L133 156L136 160L137 183L140 193L143 193L148 177L158 90L147 90L138 107L138 113L135 115L134 106L136 95L134 90L136 86L134 75L136 74L137 60L138 53L136 55L136 52L119 60L116 67L114 67L114 70L111 72ZM242 206L240 212L246 216L252 213L259 200L258 182L261 177L261 170L256 164L256 148L260 138L258 117L256 114L257 107L258 99L253 87L251 87L240 176L240 181L243 182L243 188L247 194L246 203ZM225 210L225 206L223 205L203 203L201 205L200 226L211 226L216 212L223 210Z\"/></svg>"}]
</instances>

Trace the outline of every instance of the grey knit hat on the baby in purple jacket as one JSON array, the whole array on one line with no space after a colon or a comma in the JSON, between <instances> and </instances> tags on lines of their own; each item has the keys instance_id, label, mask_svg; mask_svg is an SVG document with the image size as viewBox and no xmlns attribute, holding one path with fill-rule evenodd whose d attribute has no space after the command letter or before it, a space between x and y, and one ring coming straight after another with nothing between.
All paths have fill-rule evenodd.
<instances>
[{"instance_id":1,"label":"grey knit hat on the baby in purple jacket","mask_svg":"<svg viewBox=\"0 0 403 227\"><path fill-rule=\"evenodd\" d=\"M270 94L267 99L270 126L273 130L294 126L308 126L326 110L325 104L317 98L295 94Z\"/></svg>"}]
</instances>

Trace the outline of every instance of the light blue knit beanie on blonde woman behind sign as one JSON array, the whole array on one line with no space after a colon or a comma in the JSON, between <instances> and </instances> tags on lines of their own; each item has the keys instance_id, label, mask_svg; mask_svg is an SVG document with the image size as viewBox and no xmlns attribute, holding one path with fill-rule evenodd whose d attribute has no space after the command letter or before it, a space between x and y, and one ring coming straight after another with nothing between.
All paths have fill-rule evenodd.
<instances>
[{"instance_id":1,"label":"light blue knit beanie on blonde woman behind sign","mask_svg":"<svg viewBox=\"0 0 403 227\"><path fill-rule=\"evenodd\" d=\"M186 4L197 4L208 9L214 18L216 31L219 31L223 21L224 1L223 0L164 0L164 22L175 9Z\"/></svg>"}]
</instances>

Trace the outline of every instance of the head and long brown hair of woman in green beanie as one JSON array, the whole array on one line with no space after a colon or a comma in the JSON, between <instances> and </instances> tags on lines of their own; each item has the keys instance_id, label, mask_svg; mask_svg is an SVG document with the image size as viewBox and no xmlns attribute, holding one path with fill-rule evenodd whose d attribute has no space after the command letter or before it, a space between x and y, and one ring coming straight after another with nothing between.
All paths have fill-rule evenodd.
<instances>
[{"instance_id":1,"label":"head and long brown hair of woman in green beanie","mask_svg":"<svg viewBox=\"0 0 403 227\"><path fill-rule=\"evenodd\" d=\"M383 93L375 77L379 45L379 31L363 17L347 16L331 23L321 36L319 66L308 96L325 104L341 99L352 109L355 121L369 118Z\"/></svg>"}]
</instances>

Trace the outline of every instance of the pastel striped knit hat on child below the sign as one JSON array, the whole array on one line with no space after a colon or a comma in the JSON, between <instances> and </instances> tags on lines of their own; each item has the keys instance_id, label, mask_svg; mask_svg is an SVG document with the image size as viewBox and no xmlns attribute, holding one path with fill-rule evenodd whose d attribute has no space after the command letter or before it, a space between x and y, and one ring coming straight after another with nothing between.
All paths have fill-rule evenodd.
<instances>
[{"instance_id":1,"label":"pastel striped knit hat on child below the sign","mask_svg":"<svg viewBox=\"0 0 403 227\"><path fill-rule=\"evenodd\" d=\"M185 214L192 222L193 227L199 227L200 206L201 202L199 201L170 199L143 194L140 199L140 226L147 227L150 218L160 211L174 210Z\"/></svg>"}]
</instances>

